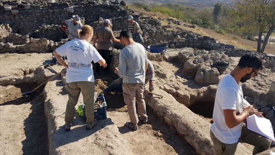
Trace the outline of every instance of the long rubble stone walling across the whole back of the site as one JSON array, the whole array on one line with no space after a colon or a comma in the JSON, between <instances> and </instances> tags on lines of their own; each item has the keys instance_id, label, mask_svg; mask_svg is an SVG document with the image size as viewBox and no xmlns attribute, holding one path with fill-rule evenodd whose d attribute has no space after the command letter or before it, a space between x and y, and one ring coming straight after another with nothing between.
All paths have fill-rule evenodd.
<instances>
[{"instance_id":1,"label":"long rubble stone walling across the whole back of the site","mask_svg":"<svg viewBox=\"0 0 275 155\"><path fill-rule=\"evenodd\" d=\"M122 1L121 1L122 2ZM120 3L121 3L120 2ZM78 6L71 6L71 3L47 3L43 6L33 4L18 4L11 7L7 5L0 5L0 21L6 24L2 24L0 33L3 34L0 40L0 53L27 53L26 46L16 46L19 44L28 44L27 35L9 34L12 27L15 32L29 33L29 37L32 38L46 38L55 42L59 42L61 39L67 38L67 34L60 30L59 24L62 20L70 19L72 15L78 14L84 19L85 24L92 26L95 30L103 24L103 20L108 18L112 21L112 30L124 30L127 29L127 15L134 14L125 9L123 5L120 5L116 1L83 1ZM17 10L17 11L16 11ZM240 57L246 53L253 51L246 51L235 49L233 45L226 45L222 43L216 43L214 38L208 36L202 36L192 31L186 31L178 29L178 31L168 31L165 27L161 26L161 18L154 19L153 17L140 17L134 15L135 21L137 21L142 29L142 36L145 38L145 45L153 44L168 44L169 48L183 48L191 47L196 49L204 49L207 51L223 51L230 57ZM177 23L178 21L169 20L170 23ZM167 27L167 26L166 26ZM10 36L8 36L10 35ZM15 40L15 41L12 41ZM11 42L12 41L12 42ZM24 43L25 42L25 43ZM55 44L55 45L53 45ZM57 45L56 45L57 44ZM52 46L53 45L53 46ZM50 47L48 47L50 46ZM47 49L45 51L37 50L39 52L53 52L55 46L59 46L59 43L48 44L47 47L39 45L40 49ZM11 49L9 50L8 48ZM22 49L23 48L23 49ZM29 50L29 53L34 51ZM258 54L263 60L265 67L275 67L275 57Z\"/></svg>"}]
</instances>

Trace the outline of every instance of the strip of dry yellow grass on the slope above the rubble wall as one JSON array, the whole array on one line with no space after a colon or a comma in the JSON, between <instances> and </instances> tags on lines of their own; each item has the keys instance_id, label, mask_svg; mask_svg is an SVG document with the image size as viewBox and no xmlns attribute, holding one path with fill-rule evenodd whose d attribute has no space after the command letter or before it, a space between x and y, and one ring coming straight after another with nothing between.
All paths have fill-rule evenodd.
<instances>
[{"instance_id":1,"label":"strip of dry yellow grass on the slope above the rubble wall","mask_svg":"<svg viewBox=\"0 0 275 155\"><path fill-rule=\"evenodd\" d=\"M129 7L136 10L137 12L143 12L145 16L152 16L153 18L161 17L163 19L170 18L167 15L163 15L162 13L159 13L159 12L149 12L149 11L141 10L140 8L135 7L133 5L129 5ZM190 23L186 23L183 21L181 21L181 22L186 25L191 25ZM168 25L168 22L166 20L163 20L162 25L163 26ZM223 35L223 34L217 33L214 30L210 30L210 29L204 29L204 28L192 29L189 27L184 27L184 26L179 26L179 25L173 25L172 28L167 28L167 30L176 31L177 27L179 27L183 30L193 31L193 32L201 34L201 35L210 36L210 37L214 38L217 42L234 45L235 48L251 50L251 51L257 50L257 42L256 41L247 40L247 39L241 38L237 35L233 35L230 33ZM267 45L265 48L265 53L275 55L275 44Z\"/></svg>"}]
</instances>

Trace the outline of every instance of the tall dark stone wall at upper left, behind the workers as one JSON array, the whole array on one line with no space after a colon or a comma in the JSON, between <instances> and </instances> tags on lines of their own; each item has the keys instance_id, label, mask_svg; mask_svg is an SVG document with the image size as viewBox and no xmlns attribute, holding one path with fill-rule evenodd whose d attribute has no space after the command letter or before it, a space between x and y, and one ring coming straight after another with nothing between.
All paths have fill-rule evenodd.
<instances>
[{"instance_id":1,"label":"tall dark stone wall at upper left, behind the workers","mask_svg":"<svg viewBox=\"0 0 275 155\"><path fill-rule=\"evenodd\" d=\"M16 7L0 5L0 21L3 24L10 24L16 33L27 34L35 31L42 24L60 25L62 21L72 18L78 14L85 18L86 24L98 21L100 17L114 18L124 17L126 19L128 11L117 2L107 1L105 3L86 2L85 5L70 6L68 3L48 3L47 7L39 5L20 4ZM127 20L126 20L127 21ZM113 30L121 30L127 25L121 26L119 23L113 24Z\"/></svg>"}]
</instances>

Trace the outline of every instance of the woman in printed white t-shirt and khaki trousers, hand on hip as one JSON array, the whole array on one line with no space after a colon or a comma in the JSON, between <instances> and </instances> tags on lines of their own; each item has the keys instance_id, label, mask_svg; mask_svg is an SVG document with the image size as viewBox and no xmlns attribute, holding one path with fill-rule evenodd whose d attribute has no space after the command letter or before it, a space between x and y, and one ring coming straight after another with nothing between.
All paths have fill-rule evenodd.
<instances>
[{"instance_id":1,"label":"woman in printed white t-shirt and khaki trousers, hand on hip","mask_svg":"<svg viewBox=\"0 0 275 155\"><path fill-rule=\"evenodd\" d=\"M77 31L79 39L66 42L53 52L56 60L65 68L67 93L69 96L65 113L65 130L70 131L75 116L75 106L78 102L79 94L83 94L85 104L85 116L87 130L92 129L97 124L94 120L94 75L92 61L98 62L104 67L107 66L105 60L97 50L89 43L93 36L93 28L84 25ZM67 56L68 64L63 61L62 56Z\"/></svg>"}]
</instances>

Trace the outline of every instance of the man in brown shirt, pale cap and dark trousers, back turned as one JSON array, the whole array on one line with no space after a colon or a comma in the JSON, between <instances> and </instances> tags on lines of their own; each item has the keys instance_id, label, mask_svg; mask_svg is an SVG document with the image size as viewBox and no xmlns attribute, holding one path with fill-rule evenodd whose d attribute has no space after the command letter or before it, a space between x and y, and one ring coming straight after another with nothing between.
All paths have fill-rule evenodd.
<instances>
[{"instance_id":1,"label":"man in brown shirt, pale cap and dark trousers, back turned","mask_svg":"<svg viewBox=\"0 0 275 155\"><path fill-rule=\"evenodd\" d=\"M105 19L103 22L103 26L98 28L95 31L94 38L93 38L93 46L95 47L95 43L97 40L97 51L106 60L108 64L107 67L103 69L103 75L109 74L109 67L112 58L112 42L120 42L119 39L116 39L113 35L111 30L111 21L109 19ZM99 75L100 72L100 65L99 63L95 63L95 75Z\"/></svg>"}]
</instances>

